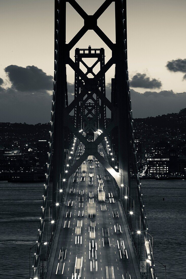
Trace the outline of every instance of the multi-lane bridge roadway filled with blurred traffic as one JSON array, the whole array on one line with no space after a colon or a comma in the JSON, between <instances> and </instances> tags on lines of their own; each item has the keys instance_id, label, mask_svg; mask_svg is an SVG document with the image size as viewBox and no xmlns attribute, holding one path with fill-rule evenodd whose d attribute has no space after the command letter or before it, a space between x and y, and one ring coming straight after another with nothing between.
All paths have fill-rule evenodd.
<instances>
[{"instance_id":1,"label":"multi-lane bridge roadway filled with blurred traffic","mask_svg":"<svg viewBox=\"0 0 186 279\"><path fill-rule=\"evenodd\" d=\"M84 147L82 148L82 152L83 150ZM103 152L105 158L106 153L103 150L103 148L99 149L99 152L101 151ZM70 186L66 198L65 210L63 214L61 229L59 232L59 238L58 238L58 243L56 247L50 278L51 279L58 279L58 278L136 279L137 277L136 277L131 253L129 250L127 237L121 220L121 213L119 210L117 197L114 190L114 185L110 177L110 174L108 174L108 172L104 169L104 167L102 167L101 164L99 164L99 167L96 167L95 157L93 157L92 163L89 163L88 160L86 160L86 165L87 165L87 173L85 176L85 181L83 180L81 181L81 177L82 177L81 167L79 167L78 169L78 182L73 182L73 178L74 178L73 175L70 178ZM90 169L90 165L93 165L94 169ZM89 185L90 172L94 172L92 186ZM98 201L99 183L98 183L97 175L101 175L101 179L104 182L103 188L106 193L106 200L105 200L106 211L101 210L101 205L103 208L104 203ZM109 181L104 180L105 176L109 176ZM70 189L72 187L75 188L74 194L70 194ZM79 191L83 191L83 190L84 190L83 208L82 207L80 208ZM95 218L87 217L87 202L89 202L90 199L89 192L93 192L94 203L96 203ZM115 203L110 203L108 198L108 193L113 194L113 199ZM73 201L72 206L68 206L68 202L70 199L71 201ZM113 212L115 209L119 214L119 218L118 217L113 218ZM71 217L69 215L66 218L68 210L69 210L69 214L71 211ZM84 210L84 217L81 217L83 210ZM79 211L80 211L80 216L78 216ZM96 221L96 226L94 228L95 239L90 239L89 226L91 220ZM82 237L82 244L75 244L76 234L78 233L78 229L76 229L77 222L78 222L78 226L82 226L81 235L79 235ZM121 233L115 233L114 225L117 223L121 226ZM109 244L105 243L105 239L104 239L104 246L103 246L103 232L105 232L105 230L108 230L109 232L110 246ZM81 242L81 237L79 238L80 242ZM122 239L124 242L125 254L122 254L121 245L120 245L121 254L118 249L117 240L118 242L120 242L120 239ZM95 249L93 250L93 257L92 257L92 247L91 250L89 250L90 248L89 242L92 244L92 240L94 240L94 247L95 247L95 242L97 244L97 250ZM78 242L78 236L77 236L77 242ZM80 259L80 261L78 261L78 259ZM91 265L91 261L92 261L92 265ZM75 269L75 266L78 267L78 264L82 265L81 276L80 276L80 271Z\"/></svg>"}]
</instances>

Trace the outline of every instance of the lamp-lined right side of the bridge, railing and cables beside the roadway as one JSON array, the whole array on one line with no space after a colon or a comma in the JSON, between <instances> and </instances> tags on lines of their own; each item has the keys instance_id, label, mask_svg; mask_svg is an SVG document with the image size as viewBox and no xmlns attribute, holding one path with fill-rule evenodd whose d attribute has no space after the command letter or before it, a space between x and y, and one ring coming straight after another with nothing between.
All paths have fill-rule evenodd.
<instances>
[{"instance_id":1,"label":"lamp-lined right side of the bridge, railing and cables beside the roadway","mask_svg":"<svg viewBox=\"0 0 186 279\"><path fill-rule=\"evenodd\" d=\"M114 156L113 146L109 138L106 138L106 145L104 149L107 153L107 157L110 164L113 167L116 166L117 165L116 162L118 162L118 160ZM113 154L110 156L110 153ZM114 160L112 160L112 158L114 158ZM146 279L156 278L157 274L156 274L156 269L154 267L153 249L152 249L152 244L150 239L151 235L149 234L147 220L145 220L146 230L144 230L144 223L142 221L143 215L141 215L141 211L140 211L140 203L139 203L139 197L137 191L138 180L136 179L135 169L133 168L133 172L132 172L132 168L130 168L130 172L131 172L131 177L130 177L129 186L127 185L119 186L116 182L115 182L115 186L118 192L118 197L120 200L123 215L126 220L128 233L130 236L130 240L132 242L133 250L135 252L135 257L139 266L141 278L146 278ZM141 185L141 183L139 185ZM141 186L140 186L140 194L142 197ZM141 199L142 199L142 207L143 207L142 212L146 219L143 197ZM149 265L149 263L146 263L146 260L149 258L152 261L151 265ZM146 268L141 269L141 266L146 266ZM152 268L154 272L152 272L151 270ZM152 274L155 275L155 277L153 277Z\"/></svg>"}]
</instances>

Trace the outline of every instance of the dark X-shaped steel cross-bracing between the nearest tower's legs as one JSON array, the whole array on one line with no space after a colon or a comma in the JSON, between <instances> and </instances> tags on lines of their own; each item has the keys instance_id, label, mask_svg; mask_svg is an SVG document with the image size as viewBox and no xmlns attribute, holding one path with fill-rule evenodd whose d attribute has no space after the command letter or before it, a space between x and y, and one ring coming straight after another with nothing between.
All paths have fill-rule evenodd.
<instances>
[{"instance_id":1,"label":"dark X-shaped steel cross-bracing between the nearest tower's legs","mask_svg":"<svg viewBox=\"0 0 186 279\"><path fill-rule=\"evenodd\" d=\"M105 88L104 93L102 90L100 91L99 88L101 87L102 78L105 76L105 73L108 71L108 69L115 64L115 44L111 42L111 40L104 34L104 32L97 26L97 19L102 15L102 13L108 8L108 6L113 1L105 1L101 7L94 13L94 15L87 15L85 11L79 6L79 4L72 0L68 1L71 6L79 13L79 15L84 19L84 26L79 30L79 32L71 39L71 41L66 44L66 64L68 64L74 71L75 71L75 99L74 101L65 108L64 116L63 116L63 125L68 126L68 128L71 130L71 132L84 144L85 146L85 152L83 155L80 156L80 158L71 166L71 168L68 170L68 173L65 173L63 176L65 176L66 179L68 179L75 170L84 162L84 160L89 155L94 155L97 160L108 170L108 172L115 178L118 185L120 185L120 175L118 172L116 172L108 163L107 161L98 153L98 145L102 142L102 140L111 132L111 130L118 125L117 122L117 114L118 110L115 108L111 102L106 98L105 96ZM96 55L96 51L94 49L87 49L88 52L82 54L82 57L80 57L79 61L77 61L77 53L80 56L80 50L76 49L75 51L75 62L72 61L70 58L70 50L77 44L77 42L83 37L83 35L88 30L94 30L94 32L102 39L102 41L111 49L112 51L112 57L109 59L109 61L106 64L102 64L102 67L100 67L100 70L97 74L93 72L94 67L99 62L96 61L91 67L88 67L87 64L83 61L82 57L84 58L91 58L91 57L98 57ZM101 49L100 49L101 50ZM83 52L83 51L82 51ZM91 55L92 54L92 55ZM80 69L80 62L85 66L87 69L87 72L84 73ZM88 78L88 74L91 73L94 77ZM81 88L81 92L78 92L78 86L77 83L82 84L83 87ZM105 87L105 85L104 85ZM96 95L96 100L93 98L93 94ZM85 100L84 100L85 98ZM102 128L102 134L97 137L97 139L94 142L89 142L86 140L86 138L79 132L79 127L76 125L74 127L74 124L69 119L69 113L76 108L75 112L78 113L78 116L75 115L75 117L83 117L85 122L87 123L87 126L85 127L85 131L88 131L89 129L92 131L96 131L96 127L94 126L96 119L98 116L103 114L103 111L100 110L99 105L99 99L101 100L102 104L104 106L107 106L114 114L114 121L105 129ZM85 106L86 102L88 100L92 100L94 102L94 107L89 109ZM98 100L98 101L97 101ZM79 102L81 102L79 106ZM88 111L86 114L83 114L85 110L79 110L79 108L85 107L85 109ZM96 111L96 108L99 109ZM93 113L93 110L95 110L95 114ZM88 120L87 116L91 115L92 120ZM101 115L101 117L104 118L104 115ZM86 157L86 158L85 158Z\"/></svg>"}]
</instances>

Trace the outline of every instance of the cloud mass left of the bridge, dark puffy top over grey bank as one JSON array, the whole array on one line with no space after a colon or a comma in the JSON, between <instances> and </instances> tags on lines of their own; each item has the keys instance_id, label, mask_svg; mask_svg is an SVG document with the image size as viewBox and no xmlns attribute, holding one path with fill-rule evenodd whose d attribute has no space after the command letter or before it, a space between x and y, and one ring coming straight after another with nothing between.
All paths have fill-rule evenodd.
<instances>
[{"instance_id":1,"label":"cloud mass left of the bridge, dark puffy top over grey bank","mask_svg":"<svg viewBox=\"0 0 186 279\"><path fill-rule=\"evenodd\" d=\"M35 124L50 121L53 88L51 76L35 66L26 68L10 65L5 68L10 88L0 86L0 119L2 122ZM2 84L0 78L0 85Z\"/></svg>"}]
</instances>

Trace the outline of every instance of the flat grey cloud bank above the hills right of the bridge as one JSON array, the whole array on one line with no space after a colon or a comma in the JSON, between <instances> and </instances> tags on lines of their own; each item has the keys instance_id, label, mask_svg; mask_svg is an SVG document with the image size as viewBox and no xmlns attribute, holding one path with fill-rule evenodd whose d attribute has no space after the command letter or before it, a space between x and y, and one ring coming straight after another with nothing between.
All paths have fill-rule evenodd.
<instances>
[{"instance_id":1,"label":"flat grey cloud bank above the hills right of the bridge","mask_svg":"<svg viewBox=\"0 0 186 279\"><path fill-rule=\"evenodd\" d=\"M162 114L179 112L186 107L186 92L170 91L139 93L131 89L133 117L144 118Z\"/></svg>"}]
</instances>

